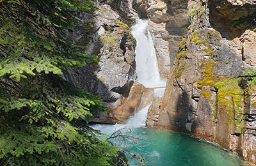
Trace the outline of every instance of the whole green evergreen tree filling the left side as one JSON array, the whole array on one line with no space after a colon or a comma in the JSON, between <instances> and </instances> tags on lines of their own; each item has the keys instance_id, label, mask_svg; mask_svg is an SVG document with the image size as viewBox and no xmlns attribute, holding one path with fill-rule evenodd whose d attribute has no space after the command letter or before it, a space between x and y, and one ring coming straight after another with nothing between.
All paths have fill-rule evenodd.
<instances>
[{"instance_id":1,"label":"whole green evergreen tree filling the left side","mask_svg":"<svg viewBox=\"0 0 256 166\"><path fill-rule=\"evenodd\" d=\"M111 165L116 147L86 126L99 97L60 78L99 60L65 40L90 1L0 0L0 165Z\"/></svg>"}]
</instances>

